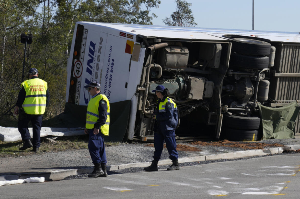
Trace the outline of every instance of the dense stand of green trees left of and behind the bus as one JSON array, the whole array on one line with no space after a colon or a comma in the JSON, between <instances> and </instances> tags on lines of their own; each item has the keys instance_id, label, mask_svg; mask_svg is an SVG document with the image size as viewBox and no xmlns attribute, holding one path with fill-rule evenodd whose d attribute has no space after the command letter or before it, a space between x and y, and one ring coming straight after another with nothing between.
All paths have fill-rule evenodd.
<instances>
[{"instance_id":1,"label":"dense stand of green trees left of and behind the bus","mask_svg":"<svg viewBox=\"0 0 300 199\"><path fill-rule=\"evenodd\" d=\"M29 68L48 82L50 104L44 119L64 111L67 59L77 21L152 24L149 11L159 0L0 0L0 126L21 88L24 59L22 33L32 34L26 47Z\"/></svg>"}]
</instances>

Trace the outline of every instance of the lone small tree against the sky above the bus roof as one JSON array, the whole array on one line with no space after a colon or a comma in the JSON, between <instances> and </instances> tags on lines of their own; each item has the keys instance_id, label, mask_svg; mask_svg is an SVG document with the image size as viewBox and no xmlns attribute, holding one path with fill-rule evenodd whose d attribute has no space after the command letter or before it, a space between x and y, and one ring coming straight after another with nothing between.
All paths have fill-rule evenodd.
<instances>
[{"instance_id":1,"label":"lone small tree against the sky above the bus roof","mask_svg":"<svg viewBox=\"0 0 300 199\"><path fill-rule=\"evenodd\" d=\"M163 22L168 26L185 26L195 27L198 25L194 20L192 10L190 9L191 3L187 3L184 0L176 0L176 11L173 12L170 18L165 17Z\"/></svg>"}]
</instances>

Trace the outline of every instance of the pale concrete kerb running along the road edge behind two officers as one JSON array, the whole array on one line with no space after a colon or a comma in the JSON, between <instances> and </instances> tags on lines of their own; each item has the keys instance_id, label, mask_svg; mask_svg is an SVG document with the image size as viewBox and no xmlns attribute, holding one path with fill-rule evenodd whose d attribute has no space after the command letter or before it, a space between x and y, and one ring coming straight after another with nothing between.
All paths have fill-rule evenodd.
<instances>
[{"instance_id":1,"label":"pale concrete kerb running along the road edge behind two officers","mask_svg":"<svg viewBox=\"0 0 300 199\"><path fill-rule=\"evenodd\" d=\"M300 149L300 145L286 145L283 147L274 147L268 149L254 149L254 150L244 150L244 151L233 151L227 152L223 151L217 154L208 154L208 155L197 155L197 156L189 156L189 157L180 157L178 159L179 163L191 163L191 162L205 162L205 161L214 161L214 160L233 160L245 157L256 157L256 156L264 156L264 155L272 155L272 154L280 154L285 151L297 151ZM241 149L239 149L241 150ZM41 157L42 158L42 157ZM63 158L63 157L60 157ZM44 168L49 167L45 162ZM170 160L160 160L158 162L158 166L164 166L170 164ZM5 161L1 162L1 167L5 165ZM135 163L126 163L126 164L115 164L115 165L107 165L107 171L118 171L127 168L134 167L147 167L150 163L148 162L135 162ZM55 167L59 168L59 167ZM93 167L72 167L72 169L39 169L39 172L32 172L29 169L24 168L23 170L18 170L18 172L14 171L5 171L5 173L0 172L0 181L3 180L17 180L17 179L26 179L29 177L44 177L45 181L55 181L62 180L66 177L78 175L78 174L86 174L93 171ZM63 168L63 167L62 167ZM13 169L12 169L13 170Z\"/></svg>"}]
</instances>

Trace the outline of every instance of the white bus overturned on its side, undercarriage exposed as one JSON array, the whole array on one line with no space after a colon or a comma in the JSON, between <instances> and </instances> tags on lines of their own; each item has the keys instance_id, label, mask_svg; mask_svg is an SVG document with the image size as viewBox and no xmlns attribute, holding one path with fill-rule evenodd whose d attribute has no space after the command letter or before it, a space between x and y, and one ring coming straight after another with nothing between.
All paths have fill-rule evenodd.
<instances>
[{"instance_id":1,"label":"white bus overturned on its side, undercarriage exposed","mask_svg":"<svg viewBox=\"0 0 300 199\"><path fill-rule=\"evenodd\" d=\"M66 106L86 106L83 86L97 80L110 135L151 141L151 91L164 85L179 110L177 139L260 140L259 105L299 100L299 65L299 33L77 22Z\"/></svg>"}]
</instances>

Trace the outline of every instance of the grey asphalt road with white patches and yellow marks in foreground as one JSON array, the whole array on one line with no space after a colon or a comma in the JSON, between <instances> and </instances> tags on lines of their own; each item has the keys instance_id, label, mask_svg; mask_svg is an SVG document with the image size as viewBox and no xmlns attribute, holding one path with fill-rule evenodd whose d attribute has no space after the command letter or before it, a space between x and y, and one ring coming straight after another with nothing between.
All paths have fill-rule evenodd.
<instances>
[{"instance_id":1,"label":"grey asphalt road with white patches and yellow marks in foreground","mask_svg":"<svg viewBox=\"0 0 300 199\"><path fill-rule=\"evenodd\" d=\"M0 198L299 198L299 154L0 187Z\"/></svg>"}]
</instances>

